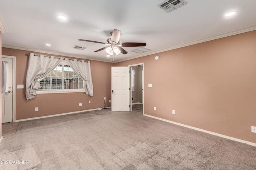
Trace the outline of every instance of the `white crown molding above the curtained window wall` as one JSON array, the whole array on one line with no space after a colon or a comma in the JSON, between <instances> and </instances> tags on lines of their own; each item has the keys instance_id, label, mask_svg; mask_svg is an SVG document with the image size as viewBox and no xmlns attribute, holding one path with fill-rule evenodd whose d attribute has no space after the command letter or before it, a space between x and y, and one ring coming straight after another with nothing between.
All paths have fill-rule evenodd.
<instances>
[{"instance_id":1,"label":"white crown molding above the curtained window wall","mask_svg":"<svg viewBox=\"0 0 256 170\"><path fill-rule=\"evenodd\" d=\"M2 44L2 47L9 48L9 49L18 49L18 50L24 50L24 51L37 52L37 53L46 53L46 54L51 54L51 55L61 55L61 56L65 56L65 57L75 57L75 58L79 58L79 59L86 59L86 60L102 61L102 62L111 63L111 62L106 61L106 60L92 59L92 58L84 57L82 55L59 53L59 52L56 52L56 51L44 51L44 50L39 50L39 49L30 49L30 48L17 47L17 46L6 45L6 44Z\"/></svg>"}]
</instances>

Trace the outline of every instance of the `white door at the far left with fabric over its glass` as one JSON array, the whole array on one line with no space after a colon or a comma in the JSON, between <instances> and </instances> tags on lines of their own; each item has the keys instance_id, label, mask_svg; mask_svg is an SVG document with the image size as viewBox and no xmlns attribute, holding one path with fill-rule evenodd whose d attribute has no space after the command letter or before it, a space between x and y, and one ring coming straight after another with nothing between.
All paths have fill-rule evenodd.
<instances>
[{"instance_id":1,"label":"white door at the far left with fabric over its glass","mask_svg":"<svg viewBox=\"0 0 256 170\"><path fill-rule=\"evenodd\" d=\"M2 123L12 122L12 65L13 59L3 58L2 61L7 61L6 72L7 72L7 83L5 93L2 94Z\"/></svg>"}]
</instances>

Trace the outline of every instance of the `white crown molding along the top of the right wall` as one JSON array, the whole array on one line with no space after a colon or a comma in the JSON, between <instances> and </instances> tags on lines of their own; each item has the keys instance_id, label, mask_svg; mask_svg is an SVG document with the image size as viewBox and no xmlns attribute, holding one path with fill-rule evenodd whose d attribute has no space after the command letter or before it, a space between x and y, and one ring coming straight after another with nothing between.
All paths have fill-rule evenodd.
<instances>
[{"instance_id":1,"label":"white crown molding along the top of the right wall","mask_svg":"<svg viewBox=\"0 0 256 170\"><path fill-rule=\"evenodd\" d=\"M173 49L178 49L178 48L181 48L181 47L186 47L186 46L189 46L189 45L194 45L194 44L198 44L198 43L204 43L206 41L212 41L214 39L220 39L220 38L224 38L224 37L229 37L229 36L232 36L232 35L236 35L236 34L240 34L240 33L245 33L245 32L249 32L249 31L254 31L256 30L256 25L252 26L252 27L247 27L247 28L243 28L243 29L238 29L238 30L235 30L235 31L231 31L231 32L228 32L228 33L224 33L224 34L220 34L220 35L215 35L215 36L212 36L212 37L207 37L207 38L204 38L204 39L198 39L196 41L190 41L188 43L183 43L183 44L180 44L180 45L174 45L172 47L168 47L168 48L164 48L164 49L160 49L160 50L157 50L157 51L150 51L148 53L144 53L143 55L137 55L136 57L131 57L129 59L123 59L123 60L119 60L119 61L116 61L114 63L119 63L119 62L122 62L122 61L127 61L127 60L131 60L131 59L136 59L136 58L139 58L139 57L144 57L144 56L148 56L148 55L153 55L153 54L156 54L156 53L161 53L161 52L164 52L164 51L169 51L169 50L173 50Z\"/></svg>"}]
</instances>

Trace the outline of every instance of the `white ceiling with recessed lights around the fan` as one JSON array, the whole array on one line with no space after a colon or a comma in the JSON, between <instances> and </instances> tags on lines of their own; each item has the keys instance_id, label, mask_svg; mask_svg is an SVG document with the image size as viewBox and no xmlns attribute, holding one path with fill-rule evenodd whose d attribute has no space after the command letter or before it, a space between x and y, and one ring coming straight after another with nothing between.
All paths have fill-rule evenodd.
<instances>
[{"instance_id":1,"label":"white ceiling with recessed lights around the fan","mask_svg":"<svg viewBox=\"0 0 256 170\"><path fill-rule=\"evenodd\" d=\"M256 29L256 0L186 0L187 5L169 14L157 6L163 1L1 0L0 16L7 31L2 34L2 46L110 61L106 51L94 53L106 45L78 39L105 43L109 33L118 29L121 43L146 43L145 48L152 50L138 54L130 51L137 47L123 47L128 54L115 56L115 61L121 61L240 29ZM235 16L224 17L234 10ZM68 20L59 20L60 14ZM86 49L73 49L74 45Z\"/></svg>"}]
</instances>

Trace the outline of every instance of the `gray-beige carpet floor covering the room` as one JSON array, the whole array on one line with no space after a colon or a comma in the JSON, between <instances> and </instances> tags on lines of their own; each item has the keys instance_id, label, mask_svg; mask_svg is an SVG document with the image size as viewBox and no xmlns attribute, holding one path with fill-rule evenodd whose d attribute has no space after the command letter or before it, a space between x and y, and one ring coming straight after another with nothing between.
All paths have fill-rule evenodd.
<instances>
[{"instance_id":1,"label":"gray-beige carpet floor covering the room","mask_svg":"<svg viewBox=\"0 0 256 170\"><path fill-rule=\"evenodd\" d=\"M1 170L256 170L256 147L143 116L137 105L22 121L0 160Z\"/></svg>"}]
</instances>

